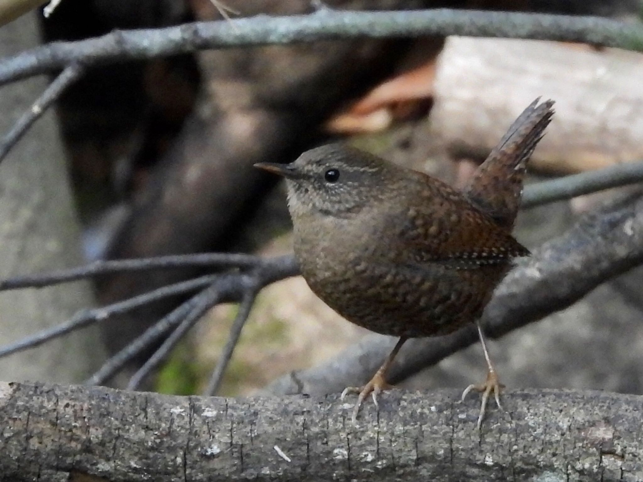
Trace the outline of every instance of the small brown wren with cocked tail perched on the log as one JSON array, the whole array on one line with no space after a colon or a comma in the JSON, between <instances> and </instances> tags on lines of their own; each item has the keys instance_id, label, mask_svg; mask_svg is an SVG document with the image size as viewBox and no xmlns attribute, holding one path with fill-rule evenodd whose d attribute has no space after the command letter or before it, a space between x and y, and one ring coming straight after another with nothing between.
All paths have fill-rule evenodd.
<instances>
[{"instance_id":1,"label":"small brown wren with cocked tail perched on the log","mask_svg":"<svg viewBox=\"0 0 643 482\"><path fill-rule=\"evenodd\" d=\"M500 383L489 359L482 315L512 259L529 251L511 236L525 163L553 114L536 99L460 192L367 152L341 144L304 152L289 165L256 165L285 177L294 226L294 253L312 291L347 320L399 341L363 400L390 388L386 371L404 341L445 335L477 323L487 379L478 428L489 395L500 407Z\"/></svg>"}]
</instances>

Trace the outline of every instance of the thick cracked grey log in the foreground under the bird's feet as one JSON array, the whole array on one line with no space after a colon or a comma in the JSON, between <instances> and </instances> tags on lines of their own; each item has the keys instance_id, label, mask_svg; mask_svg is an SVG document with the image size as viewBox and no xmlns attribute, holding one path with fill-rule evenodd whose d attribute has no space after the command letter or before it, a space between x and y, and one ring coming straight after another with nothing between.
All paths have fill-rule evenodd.
<instances>
[{"instance_id":1,"label":"thick cracked grey log in the foreground under the bird's feet","mask_svg":"<svg viewBox=\"0 0 643 482\"><path fill-rule=\"evenodd\" d=\"M639 481L643 397L391 391L350 423L337 396L175 397L0 384L0 480ZM511 415L510 415L511 414ZM85 478L86 480L87 478Z\"/></svg>"}]
</instances>

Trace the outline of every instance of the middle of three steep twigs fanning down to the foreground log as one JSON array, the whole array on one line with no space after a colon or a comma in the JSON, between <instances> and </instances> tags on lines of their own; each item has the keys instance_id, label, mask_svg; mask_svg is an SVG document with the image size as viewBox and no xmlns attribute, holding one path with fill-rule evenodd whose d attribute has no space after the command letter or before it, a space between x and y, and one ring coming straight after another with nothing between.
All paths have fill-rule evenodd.
<instances>
[{"instance_id":1,"label":"middle of three steep twigs fanning down to the foreground log","mask_svg":"<svg viewBox=\"0 0 643 482\"><path fill-rule=\"evenodd\" d=\"M199 294L198 299L194 299L192 303L192 308L186 317L181 321L181 324L177 326L166 339L163 341L161 346L154 352L154 354L149 357L149 359L141 366L141 368L134 373L132 378L127 384L128 390L136 390L141 384L143 379L149 375L154 368L156 368L159 363L161 363L167 355L172 351L172 348L176 346L177 343L183 338L185 334L192 328L192 326L201 319L201 317L212 308L214 305L219 303L221 299L221 282L215 281L208 289L204 290Z\"/></svg>"}]
</instances>

